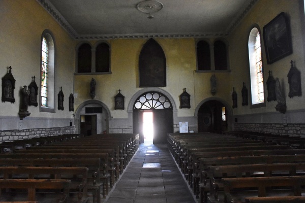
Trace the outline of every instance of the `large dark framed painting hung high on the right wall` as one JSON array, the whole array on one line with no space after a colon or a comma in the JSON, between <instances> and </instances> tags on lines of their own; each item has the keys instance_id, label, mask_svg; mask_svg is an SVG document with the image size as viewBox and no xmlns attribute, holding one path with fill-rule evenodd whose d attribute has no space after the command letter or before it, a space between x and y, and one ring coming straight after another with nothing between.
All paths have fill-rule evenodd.
<instances>
[{"instance_id":1,"label":"large dark framed painting hung high on the right wall","mask_svg":"<svg viewBox=\"0 0 305 203\"><path fill-rule=\"evenodd\" d=\"M266 24L263 31L268 64L292 53L290 25L284 12Z\"/></svg>"}]
</instances>

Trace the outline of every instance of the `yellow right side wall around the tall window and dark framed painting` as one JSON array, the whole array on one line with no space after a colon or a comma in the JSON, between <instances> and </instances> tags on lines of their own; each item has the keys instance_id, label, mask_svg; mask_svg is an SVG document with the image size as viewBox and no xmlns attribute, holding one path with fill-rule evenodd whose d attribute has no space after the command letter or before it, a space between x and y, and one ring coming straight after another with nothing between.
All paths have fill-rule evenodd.
<instances>
[{"instance_id":1,"label":"yellow right side wall around the tall window and dark framed painting","mask_svg":"<svg viewBox=\"0 0 305 203\"><path fill-rule=\"evenodd\" d=\"M303 38L304 32L304 10L303 5L299 4L298 0L260 0L247 14L245 19L234 29L230 34L228 40L230 42L230 56L232 67L232 85L236 87L238 95L238 108L234 109L235 115L275 112L277 101L267 101L267 87L266 81L268 79L268 71L272 72L274 78L279 78L282 88L285 89L284 95L286 97L287 111L300 110L305 108L304 96L288 97L289 84L287 74L290 70L290 61L295 61L296 68L301 72L302 92L305 90L305 71L304 71L304 50ZM242 82L246 83L250 94L250 74L249 74L249 55L248 55L248 40L249 33L253 28L253 24L260 27L261 35L263 35L263 27L275 18L281 12L285 12L291 27L291 38L293 53L285 58L278 60L272 64L267 64L265 47L263 38L262 44L262 62L264 70L264 84L265 84L265 100L266 107L251 109L249 106L241 106L241 88ZM249 101L251 96L249 95ZM249 103L251 104L251 103Z\"/></svg>"}]
</instances>

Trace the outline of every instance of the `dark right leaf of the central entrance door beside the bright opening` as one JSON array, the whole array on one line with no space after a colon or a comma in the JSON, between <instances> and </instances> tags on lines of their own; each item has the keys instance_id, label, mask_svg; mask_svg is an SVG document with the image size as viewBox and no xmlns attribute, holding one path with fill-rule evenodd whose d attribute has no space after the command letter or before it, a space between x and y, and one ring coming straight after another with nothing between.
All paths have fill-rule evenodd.
<instances>
[{"instance_id":1,"label":"dark right leaf of the central entrance door beside the bright opening","mask_svg":"<svg viewBox=\"0 0 305 203\"><path fill-rule=\"evenodd\" d=\"M154 110L154 144L167 143L167 133L173 132L173 111Z\"/></svg>"}]
</instances>

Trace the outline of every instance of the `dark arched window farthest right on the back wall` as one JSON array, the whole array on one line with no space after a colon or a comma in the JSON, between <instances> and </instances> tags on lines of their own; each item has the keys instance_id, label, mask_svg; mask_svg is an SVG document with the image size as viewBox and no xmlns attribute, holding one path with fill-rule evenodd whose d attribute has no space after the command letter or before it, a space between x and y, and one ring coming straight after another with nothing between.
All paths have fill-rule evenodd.
<instances>
[{"instance_id":1,"label":"dark arched window farthest right on the back wall","mask_svg":"<svg viewBox=\"0 0 305 203\"><path fill-rule=\"evenodd\" d=\"M221 40L214 42L214 61L216 71L228 70L227 46Z\"/></svg>"}]
</instances>

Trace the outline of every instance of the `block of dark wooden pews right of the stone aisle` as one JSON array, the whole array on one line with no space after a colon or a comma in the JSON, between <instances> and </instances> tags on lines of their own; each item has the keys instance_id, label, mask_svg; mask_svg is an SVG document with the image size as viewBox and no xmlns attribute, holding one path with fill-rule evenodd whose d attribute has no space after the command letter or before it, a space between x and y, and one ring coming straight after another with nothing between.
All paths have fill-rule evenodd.
<instances>
[{"instance_id":1,"label":"block of dark wooden pews right of the stone aisle","mask_svg":"<svg viewBox=\"0 0 305 203\"><path fill-rule=\"evenodd\" d=\"M201 203L305 202L304 143L247 131L168 133L168 147Z\"/></svg>"}]
</instances>

